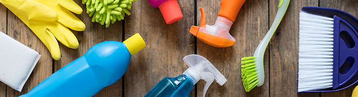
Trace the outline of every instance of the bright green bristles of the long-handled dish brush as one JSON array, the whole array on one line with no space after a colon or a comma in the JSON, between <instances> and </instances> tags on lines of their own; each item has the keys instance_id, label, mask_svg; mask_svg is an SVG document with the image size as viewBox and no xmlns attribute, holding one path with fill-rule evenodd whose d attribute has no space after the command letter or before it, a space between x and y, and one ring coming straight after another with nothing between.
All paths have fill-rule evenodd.
<instances>
[{"instance_id":1,"label":"bright green bristles of the long-handled dish brush","mask_svg":"<svg viewBox=\"0 0 358 97\"><path fill-rule=\"evenodd\" d=\"M246 92L258 84L255 57L241 58L241 78Z\"/></svg>"}]
</instances>

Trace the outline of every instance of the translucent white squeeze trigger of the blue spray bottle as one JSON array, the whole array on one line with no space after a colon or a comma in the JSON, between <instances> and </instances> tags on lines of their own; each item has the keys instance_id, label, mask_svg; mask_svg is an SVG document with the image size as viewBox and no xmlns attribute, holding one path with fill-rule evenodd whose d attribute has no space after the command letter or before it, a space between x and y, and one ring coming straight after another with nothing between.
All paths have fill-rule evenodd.
<instances>
[{"instance_id":1,"label":"translucent white squeeze trigger of the blue spray bottle","mask_svg":"<svg viewBox=\"0 0 358 97\"><path fill-rule=\"evenodd\" d=\"M204 81L206 81L205 86L204 86L204 91L203 91L203 97L205 97L206 91L209 88L209 86L211 85L211 83L213 83L213 81L215 80L215 77L210 72L203 72L200 74L200 76Z\"/></svg>"}]
</instances>

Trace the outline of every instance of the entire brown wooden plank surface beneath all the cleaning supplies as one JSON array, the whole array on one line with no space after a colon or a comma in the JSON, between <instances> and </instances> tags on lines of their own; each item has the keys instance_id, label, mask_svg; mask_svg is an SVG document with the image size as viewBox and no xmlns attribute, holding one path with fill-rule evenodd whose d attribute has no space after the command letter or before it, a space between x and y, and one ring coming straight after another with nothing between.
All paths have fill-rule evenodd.
<instances>
[{"instance_id":1,"label":"entire brown wooden plank surface beneath all the cleaning supplies","mask_svg":"<svg viewBox=\"0 0 358 97\"><path fill-rule=\"evenodd\" d=\"M85 10L81 0L74 0ZM246 93L242 86L240 58L252 56L256 46L269 30L279 0L247 0L242 6L230 33L237 43L229 48L215 48L196 39L188 31L200 25L203 7L206 23L213 25L220 10L220 0L179 0L183 19L167 25L158 8L147 0L134 1L131 16L109 28L92 23L86 13L78 16L86 25L83 32L74 32L80 47L69 49L60 44L61 59L54 61L36 35L11 11L0 5L0 31L35 49L42 56L22 92L0 82L0 97L17 97L29 92L53 72L85 54L103 41L120 41L139 33L147 46L132 56L124 76L102 89L95 97L143 97L164 77L181 75L188 66L182 58L199 54L207 58L228 80L223 86L213 82L206 97L350 97L353 87L332 93L296 93L298 68L298 13L304 6L330 7L358 16L358 0L291 0L269 48L266 49L265 83ZM190 97L202 97L205 81L199 81Z\"/></svg>"}]
</instances>

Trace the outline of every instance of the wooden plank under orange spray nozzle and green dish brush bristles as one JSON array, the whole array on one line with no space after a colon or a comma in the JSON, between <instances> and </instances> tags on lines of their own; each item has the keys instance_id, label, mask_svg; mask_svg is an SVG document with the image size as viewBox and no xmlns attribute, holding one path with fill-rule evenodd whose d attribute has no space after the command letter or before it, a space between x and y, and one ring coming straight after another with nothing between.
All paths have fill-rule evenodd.
<instances>
[{"instance_id":1,"label":"wooden plank under orange spray nozzle and green dish brush bristles","mask_svg":"<svg viewBox=\"0 0 358 97\"><path fill-rule=\"evenodd\" d=\"M200 25L200 7L204 8L206 24L213 25L220 10L220 0L198 0L197 25ZM237 20L231 27L230 34L236 43L228 48L216 48L202 41L197 41L197 53L208 59L227 79L220 86L213 82L206 92L206 97L268 97L269 96L269 60L265 54L264 68L265 83L245 92L242 85L240 59L244 56L253 56L257 45L268 31L268 0L246 0ZM205 81L197 83L197 97L203 96Z\"/></svg>"}]
</instances>

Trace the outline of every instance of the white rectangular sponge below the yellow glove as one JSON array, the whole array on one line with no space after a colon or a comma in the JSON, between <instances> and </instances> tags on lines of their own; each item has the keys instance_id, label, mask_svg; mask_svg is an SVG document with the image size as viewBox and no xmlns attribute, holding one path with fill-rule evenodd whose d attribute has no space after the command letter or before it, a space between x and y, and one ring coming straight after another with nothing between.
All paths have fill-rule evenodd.
<instances>
[{"instance_id":1,"label":"white rectangular sponge below the yellow glove","mask_svg":"<svg viewBox=\"0 0 358 97\"><path fill-rule=\"evenodd\" d=\"M20 91L41 55L0 32L0 81Z\"/></svg>"}]
</instances>

